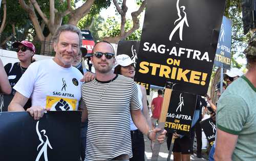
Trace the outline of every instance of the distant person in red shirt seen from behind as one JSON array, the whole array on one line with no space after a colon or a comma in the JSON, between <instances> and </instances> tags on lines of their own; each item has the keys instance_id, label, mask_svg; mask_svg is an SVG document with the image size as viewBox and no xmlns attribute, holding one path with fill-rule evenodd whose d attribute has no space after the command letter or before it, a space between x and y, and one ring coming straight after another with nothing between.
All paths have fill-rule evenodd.
<instances>
[{"instance_id":1,"label":"distant person in red shirt seen from behind","mask_svg":"<svg viewBox=\"0 0 256 161\"><path fill-rule=\"evenodd\" d=\"M158 94L157 97L154 98L151 102L153 126L156 126L156 123L159 120L161 109L162 109L162 103L163 103L163 91L158 90L157 94Z\"/></svg>"}]
</instances>

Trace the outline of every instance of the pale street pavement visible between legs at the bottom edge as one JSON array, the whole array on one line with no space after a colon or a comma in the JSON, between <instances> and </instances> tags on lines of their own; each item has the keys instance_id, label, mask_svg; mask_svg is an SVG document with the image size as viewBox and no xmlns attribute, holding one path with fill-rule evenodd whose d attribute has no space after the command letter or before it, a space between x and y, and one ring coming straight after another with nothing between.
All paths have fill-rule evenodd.
<instances>
[{"instance_id":1,"label":"pale street pavement visible between legs at the bottom edge","mask_svg":"<svg viewBox=\"0 0 256 161\"><path fill-rule=\"evenodd\" d=\"M147 139L146 136L144 136L145 141L145 160L150 161L152 156L152 150L151 150L151 141ZM166 161L168 156L168 149L166 141L161 144L160 152L158 161ZM171 160L173 160L173 155L170 157ZM196 154L190 156L190 160L207 160L204 158L198 158Z\"/></svg>"}]
</instances>

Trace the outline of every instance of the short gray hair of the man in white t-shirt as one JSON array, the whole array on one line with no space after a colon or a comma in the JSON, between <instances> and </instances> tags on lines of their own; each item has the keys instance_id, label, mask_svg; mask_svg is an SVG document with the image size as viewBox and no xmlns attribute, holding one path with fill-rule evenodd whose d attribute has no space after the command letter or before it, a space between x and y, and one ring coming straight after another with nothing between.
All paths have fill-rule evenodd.
<instances>
[{"instance_id":1,"label":"short gray hair of the man in white t-shirt","mask_svg":"<svg viewBox=\"0 0 256 161\"><path fill-rule=\"evenodd\" d=\"M82 46L82 33L80 31L80 29L77 28L77 26L74 26L72 24L64 24L59 26L58 30L56 31L55 35L53 36L53 42L57 43L59 41L59 35L61 32L63 31L71 31L74 33L77 33L78 37L79 37L79 49Z\"/></svg>"}]
</instances>

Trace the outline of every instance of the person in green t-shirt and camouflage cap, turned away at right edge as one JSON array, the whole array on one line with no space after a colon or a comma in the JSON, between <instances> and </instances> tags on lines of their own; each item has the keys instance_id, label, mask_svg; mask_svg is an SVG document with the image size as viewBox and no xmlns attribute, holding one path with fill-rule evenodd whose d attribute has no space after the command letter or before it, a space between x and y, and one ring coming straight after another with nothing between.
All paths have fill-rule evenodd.
<instances>
[{"instance_id":1,"label":"person in green t-shirt and camouflage cap, turned away at right edge","mask_svg":"<svg viewBox=\"0 0 256 161\"><path fill-rule=\"evenodd\" d=\"M218 102L215 160L256 158L256 33L244 50L248 71Z\"/></svg>"}]
</instances>

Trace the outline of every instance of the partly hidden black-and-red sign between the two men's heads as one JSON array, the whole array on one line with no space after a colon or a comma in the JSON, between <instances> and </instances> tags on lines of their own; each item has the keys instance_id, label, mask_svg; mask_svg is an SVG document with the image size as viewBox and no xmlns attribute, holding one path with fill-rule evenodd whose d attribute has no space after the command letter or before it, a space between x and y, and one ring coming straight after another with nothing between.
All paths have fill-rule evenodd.
<instances>
[{"instance_id":1,"label":"partly hidden black-and-red sign between the two men's heads","mask_svg":"<svg viewBox=\"0 0 256 161\"><path fill-rule=\"evenodd\" d=\"M87 53L92 53L95 42L90 30L81 30L82 33L82 47L87 48Z\"/></svg>"}]
</instances>

